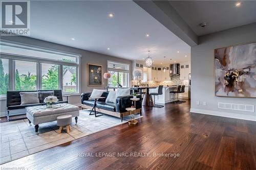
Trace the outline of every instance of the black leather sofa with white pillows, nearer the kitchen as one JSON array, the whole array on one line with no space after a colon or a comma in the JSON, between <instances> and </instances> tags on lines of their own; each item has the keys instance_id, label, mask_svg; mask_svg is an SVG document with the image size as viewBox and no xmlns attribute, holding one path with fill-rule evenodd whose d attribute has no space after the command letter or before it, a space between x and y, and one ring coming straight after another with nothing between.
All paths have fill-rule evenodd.
<instances>
[{"instance_id":1,"label":"black leather sofa with white pillows, nearer the kitchen","mask_svg":"<svg viewBox=\"0 0 256 170\"><path fill-rule=\"evenodd\" d=\"M94 106L94 100L89 100L91 92L81 94L81 106L82 108L92 109ZM120 117L121 121L123 116L130 115L130 112L127 112L125 108L132 106L133 95L119 96L116 98L116 103L105 102L108 97L109 92L103 92L101 97L104 99L99 99L96 103L96 111L109 114L112 116ZM140 98L139 101L136 101L136 110L135 113L141 113L141 95L137 95L137 98Z\"/></svg>"}]
</instances>

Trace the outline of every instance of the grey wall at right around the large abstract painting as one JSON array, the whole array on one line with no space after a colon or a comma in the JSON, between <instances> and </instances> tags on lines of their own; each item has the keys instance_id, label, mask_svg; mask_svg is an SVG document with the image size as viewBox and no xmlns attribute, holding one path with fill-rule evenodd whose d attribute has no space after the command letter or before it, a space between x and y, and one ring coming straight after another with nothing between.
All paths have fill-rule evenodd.
<instances>
[{"instance_id":1,"label":"grey wall at right around the large abstract painting","mask_svg":"<svg viewBox=\"0 0 256 170\"><path fill-rule=\"evenodd\" d=\"M256 116L254 112L218 109L218 102L256 104L256 99L225 98L215 96L214 50L216 48L256 42L256 23L199 37L199 45L191 47L191 111L203 109L211 113L225 112ZM200 105L197 105L200 101ZM206 102L206 106L203 106ZM256 120L256 117L255 117Z\"/></svg>"}]
</instances>

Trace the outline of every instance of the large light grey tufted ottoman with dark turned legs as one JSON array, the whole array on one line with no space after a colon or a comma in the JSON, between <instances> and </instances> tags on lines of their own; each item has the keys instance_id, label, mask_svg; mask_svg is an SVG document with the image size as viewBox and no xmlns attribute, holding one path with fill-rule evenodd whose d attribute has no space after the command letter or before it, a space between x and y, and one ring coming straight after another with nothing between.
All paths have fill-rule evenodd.
<instances>
[{"instance_id":1,"label":"large light grey tufted ottoman with dark turned legs","mask_svg":"<svg viewBox=\"0 0 256 170\"><path fill-rule=\"evenodd\" d=\"M79 107L63 103L59 108L46 108L46 106L33 106L26 108L26 115L29 120L29 124L35 125L35 132L38 134L39 124L53 122L57 120L58 116L70 114L77 119L79 116Z\"/></svg>"}]
</instances>

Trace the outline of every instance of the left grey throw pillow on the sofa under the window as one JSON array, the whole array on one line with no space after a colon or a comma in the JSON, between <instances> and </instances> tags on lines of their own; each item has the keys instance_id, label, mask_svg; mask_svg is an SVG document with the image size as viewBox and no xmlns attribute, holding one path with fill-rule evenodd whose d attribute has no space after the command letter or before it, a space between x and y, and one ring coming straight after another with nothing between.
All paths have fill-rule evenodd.
<instances>
[{"instance_id":1,"label":"left grey throw pillow on the sofa under the window","mask_svg":"<svg viewBox=\"0 0 256 170\"><path fill-rule=\"evenodd\" d=\"M19 94L20 99L22 100L20 105L39 103L38 91L19 92Z\"/></svg>"}]
</instances>

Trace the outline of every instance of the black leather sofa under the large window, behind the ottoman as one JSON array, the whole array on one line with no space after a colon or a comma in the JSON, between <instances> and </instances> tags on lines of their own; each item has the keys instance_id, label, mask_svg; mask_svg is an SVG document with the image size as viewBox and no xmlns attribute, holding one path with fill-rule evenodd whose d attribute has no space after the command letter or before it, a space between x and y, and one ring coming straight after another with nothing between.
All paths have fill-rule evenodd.
<instances>
[{"instance_id":1,"label":"black leather sofa under the large window, behind the ottoman","mask_svg":"<svg viewBox=\"0 0 256 170\"><path fill-rule=\"evenodd\" d=\"M54 95L58 98L59 103L68 103L68 101L63 101L62 99L62 91L61 90L34 90L34 91L54 91ZM6 105L7 105L7 120L9 121L9 112L10 110L16 109L25 109L26 107L30 106L40 106L45 105L46 103L41 102L37 104L27 104L27 105L20 105L21 99L19 92L26 92L26 91L7 91L6 94Z\"/></svg>"}]
</instances>

